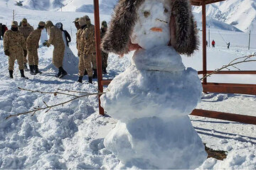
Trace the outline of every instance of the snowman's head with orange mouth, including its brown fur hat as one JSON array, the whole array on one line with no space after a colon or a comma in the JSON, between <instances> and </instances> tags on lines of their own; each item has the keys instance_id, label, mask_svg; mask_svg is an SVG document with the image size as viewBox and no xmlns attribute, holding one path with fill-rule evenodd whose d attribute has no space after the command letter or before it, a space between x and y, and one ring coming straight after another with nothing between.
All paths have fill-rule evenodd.
<instances>
[{"instance_id":1,"label":"snowman's head with orange mouth, including its brown fur hat","mask_svg":"<svg viewBox=\"0 0 256 170\"><path fill-rule=\"evenodd\" d=\"M131 44L144 49L170 45L191 55L198 47L196 24L189 0L119 0L102 50L126 54Z\"/></svg>"}]
</instances>

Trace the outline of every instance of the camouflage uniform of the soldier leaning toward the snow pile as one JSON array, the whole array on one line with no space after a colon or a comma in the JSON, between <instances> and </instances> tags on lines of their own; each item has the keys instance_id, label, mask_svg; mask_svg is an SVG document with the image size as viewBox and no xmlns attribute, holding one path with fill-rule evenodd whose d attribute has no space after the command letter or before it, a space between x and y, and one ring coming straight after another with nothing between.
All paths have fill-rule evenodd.
<instances>
[{"instance_id":1,"label":"camouflage uniform of the soldier leaning toward the snow pile","mask_svg":"<svg viewBox=\"0 0 256 170\"><path fill-rule=\"evenodd\" d=\"M62 31L55 26L51 26L49 28L49 35L50 38L48 40L48 44L52 44L54 46L53 64L55 67L60 68L63 66L63 57L65 52Z\"/></svg>"}]
</instances>

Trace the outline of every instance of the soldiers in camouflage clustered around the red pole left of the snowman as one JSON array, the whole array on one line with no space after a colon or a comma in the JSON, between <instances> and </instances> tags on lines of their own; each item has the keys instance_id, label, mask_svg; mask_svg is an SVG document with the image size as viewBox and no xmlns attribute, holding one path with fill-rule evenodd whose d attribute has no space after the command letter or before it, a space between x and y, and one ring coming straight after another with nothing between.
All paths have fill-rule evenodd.
<instances>
[{"instance_id":1,"label":"soldiers in camouflage clustered around the red pole left of the snowman","mask_svg":"<svg viewBox=\"0 0 256 170\"><path fill-rule=\"evenodd\" d=\"M95 49L95 26L92 25L89 16L75 18L76 42L79 57L79 78L78 82L82 83L82 77L88 75L89 83L92 79L97 78L96 49ZM107 31L107 22L102 21L101 38ZM108 54L102 52L102 73L107 73Z\"/></svg>"}]
</instances>

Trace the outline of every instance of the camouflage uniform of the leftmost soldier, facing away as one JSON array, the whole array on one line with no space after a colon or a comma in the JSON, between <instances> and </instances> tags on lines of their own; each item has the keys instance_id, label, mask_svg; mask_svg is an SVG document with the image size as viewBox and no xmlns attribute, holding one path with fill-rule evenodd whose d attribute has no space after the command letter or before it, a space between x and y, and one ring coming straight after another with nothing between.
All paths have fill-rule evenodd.
<instances>
[{"instance_id":1,"label":"camouflage uniform of the leftmost soldier, facing away","mask_svg":"<svg viewBox=\"0 0 256 170\"><path fill-rule=\"evenodd\" d=\"M6 50L9 51L9 70L14 70L15 60L18 62L18 69L24 69L23 51L26 50L26 41L21 32L7 30L4 33L4 51Z\"/></svg>"}]
</instances>

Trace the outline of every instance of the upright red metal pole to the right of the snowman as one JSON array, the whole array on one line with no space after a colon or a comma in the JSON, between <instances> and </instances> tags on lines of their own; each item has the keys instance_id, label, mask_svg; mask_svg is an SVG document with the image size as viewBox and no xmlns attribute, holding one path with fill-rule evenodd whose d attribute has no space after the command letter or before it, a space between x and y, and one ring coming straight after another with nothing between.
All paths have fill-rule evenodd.
<instances>
[{"instance_id":1,"label":"upright red metal pole to the right of the snowman","mask_svg":"<svg viewBox=\"0 0 256 170\"><path fill-rule=\"evenodd\" d=\"M206 0L202 1L202 25L203 25L203 77L206 76ZM210 42L208 42L210 43ZM203 79L203 84L207 84L207 79Z\"/></svg>"}]
</instances>

